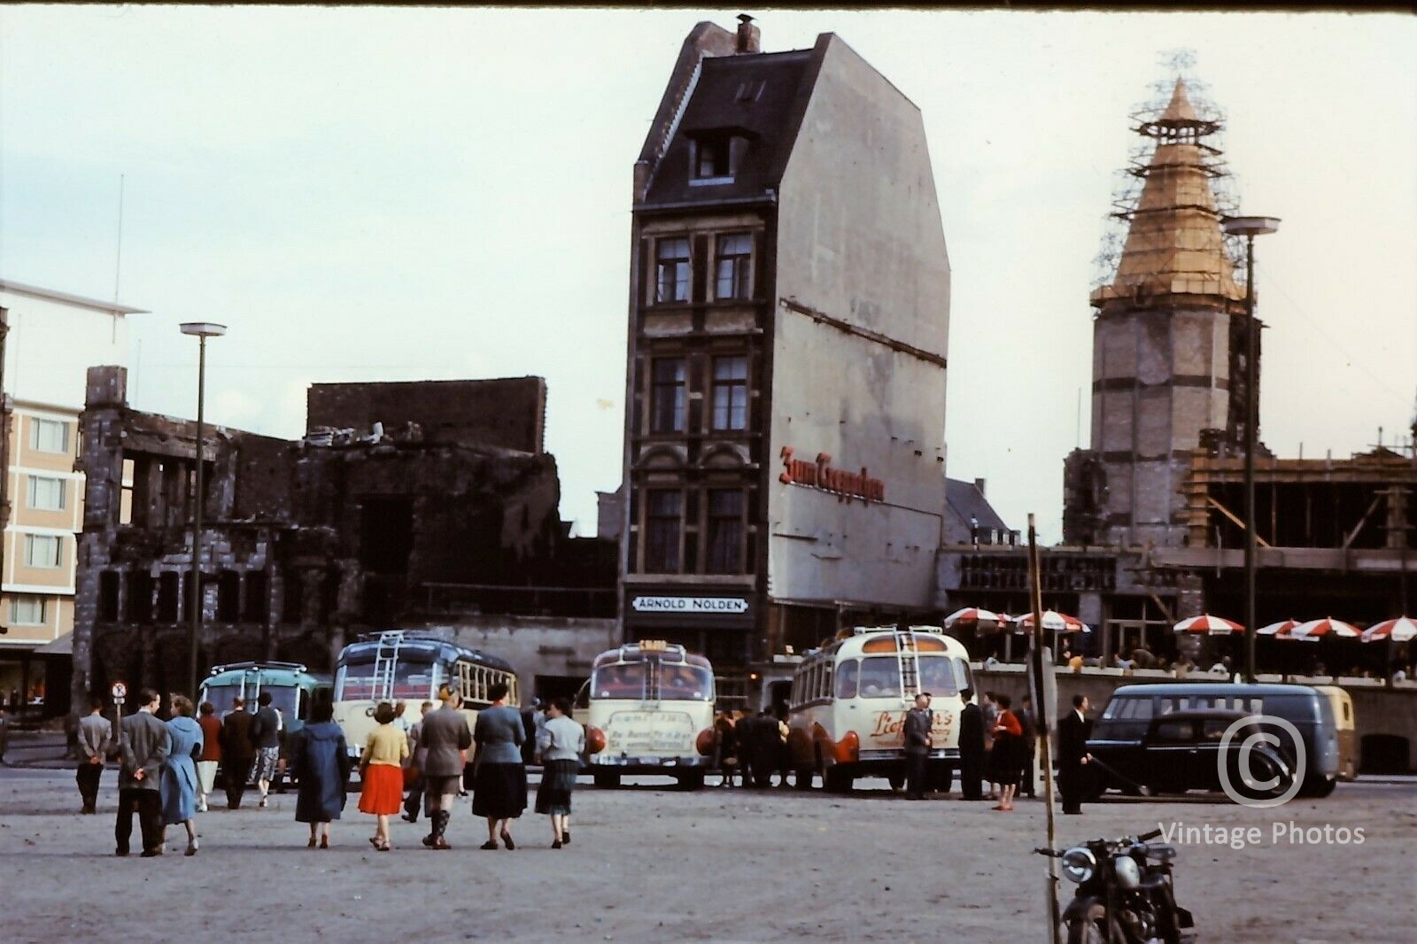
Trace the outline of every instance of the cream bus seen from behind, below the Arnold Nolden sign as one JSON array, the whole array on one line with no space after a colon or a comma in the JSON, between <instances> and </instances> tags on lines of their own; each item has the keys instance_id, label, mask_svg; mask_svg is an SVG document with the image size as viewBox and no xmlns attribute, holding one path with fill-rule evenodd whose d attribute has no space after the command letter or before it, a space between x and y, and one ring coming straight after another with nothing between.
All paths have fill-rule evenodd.
<instances>
[{"instance_id":1,"label":"cream bus seen from behind, below the Arnold Nolden sign","mask_svg":"<svg viewBox=\"0 0 1417 944\"><path fill-rule=\"evenodd\" d=\"M623 774L704 785L713 753L713 666L679 644L645 639L595 656L575 700L597 787Z\"/></svg>"}]
</instances>

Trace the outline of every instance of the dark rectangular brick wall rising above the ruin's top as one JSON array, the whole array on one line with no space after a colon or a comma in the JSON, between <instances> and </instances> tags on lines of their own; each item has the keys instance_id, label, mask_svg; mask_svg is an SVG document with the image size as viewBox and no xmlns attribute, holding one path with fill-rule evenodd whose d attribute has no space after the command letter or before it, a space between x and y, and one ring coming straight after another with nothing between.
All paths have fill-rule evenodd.
<instances>
[{"instance_id":1,"label":"dark rectangular brick wall rising above the ruin's top","mask_svg":"<svg viewBox=\"0 0 1417 944\"><path fill-rule=\"evenodd\" d=\"M387 431L417 422L427 442L492 445L520 452L546 448L546 380L422 380L310 384L306 429Z\"/></svg>"}]
</instances>

